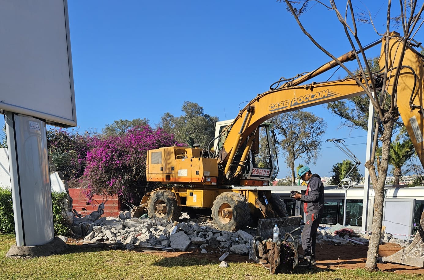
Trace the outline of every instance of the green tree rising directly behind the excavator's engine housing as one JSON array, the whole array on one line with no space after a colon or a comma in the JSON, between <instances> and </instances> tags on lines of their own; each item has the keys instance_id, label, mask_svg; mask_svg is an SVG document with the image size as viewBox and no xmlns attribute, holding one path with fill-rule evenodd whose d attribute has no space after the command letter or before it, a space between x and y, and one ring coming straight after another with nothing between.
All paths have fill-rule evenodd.
<instances>
[{"instance_id":1,"label":"green tree rising directly behind the excavator's engine housing","mask_svg":"<svg viewBox=\"0 0 424 280\"><path fill-rule=\"evenodd\" d=\"M175 140L180 143L197 143L202 148L207 148L215 137L218 117L205 114L203 107L189 101L184 102L181 111L184 114L179 117L169 112L162 115L159 127L175 135Z\"/></svg>"}]
</instances>

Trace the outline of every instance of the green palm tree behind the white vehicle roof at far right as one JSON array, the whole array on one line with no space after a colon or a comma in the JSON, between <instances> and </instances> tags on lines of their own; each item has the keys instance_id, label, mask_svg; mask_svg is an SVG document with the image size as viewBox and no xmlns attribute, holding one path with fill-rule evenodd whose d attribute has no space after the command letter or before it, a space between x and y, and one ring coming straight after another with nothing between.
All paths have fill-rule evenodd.
<instances>
[{"instance_id":1,"label":"green palm tree behind the white vehicle roof at far right","mask_svg":"<svg viewBox=\"0 0 424 280\"><path fill-rule=\"evenodd\" d=\"M377 150L377 156L381 156L381 148ZM402 176L402 166L415 154L415 148L410 139L404 142L390 144L389 163L393 165L394 184L399 184L399 178Z\"/></svg>"}]
</instances>

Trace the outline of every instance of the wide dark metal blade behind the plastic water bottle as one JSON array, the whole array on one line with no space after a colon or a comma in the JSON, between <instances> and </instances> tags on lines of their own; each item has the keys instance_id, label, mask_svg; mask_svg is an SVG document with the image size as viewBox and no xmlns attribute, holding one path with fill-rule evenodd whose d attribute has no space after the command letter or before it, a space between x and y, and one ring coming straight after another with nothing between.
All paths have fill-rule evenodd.
<instances>
[{"instance_id":1,"label":"wide dark metal blade behind the plastic water bottle","mask_svg":"<svg viewBox=\"0 0 424 280\"><path fill-rule=\"evenodd\" d=\"M277 225L280 238L283 238L286 233L299 228L301 220L302 216L259 219L256 235L261 236L263 239L272 238L274 226ZM300 230L294 231L293 235L300 235Z\"/></svg>"}]
</instances>

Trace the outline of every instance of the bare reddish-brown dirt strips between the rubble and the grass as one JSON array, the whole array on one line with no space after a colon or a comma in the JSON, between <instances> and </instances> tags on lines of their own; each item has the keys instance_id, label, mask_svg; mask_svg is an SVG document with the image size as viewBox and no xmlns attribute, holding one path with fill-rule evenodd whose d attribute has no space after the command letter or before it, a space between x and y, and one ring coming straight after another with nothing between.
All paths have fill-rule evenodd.
<instances>
[{"instance_id":1,"label":"bare reddish-brown dirt strips between the rubble and the grass","mask_svg":"<svg viewBox=\"0 0 424 280\"><path fill-rule=\"evenodd\" d=\"M367 258L368 246L366 245L332 245L332 244L317 244L316 245L316 255L317 255L317 264L316 267L321 269L355 269L355 268L364 268L365 261ZM379 256L386 257L396 253L402 249L397 244L392 243L383 243L379 247ZM301 253L301 252L299 252ZM158 252L152 253L155 255L161 255L165 258L171 258L176 256L182 256L187 258L209 258L212 260L218 261L218 258L222 254L212 253L212 254L202 254L198 252ZM226 258L228 262L251 262L252 265L258 265L255 262L251 261L248 256L243 255L234 255L230 254ZM407 266L403 264L377 264L378 268L381 271L386 272L395 272L400 274L406 273L417 273L424 274L423 268L417 268L413 266Z\"/></svg>"}]
</instances>

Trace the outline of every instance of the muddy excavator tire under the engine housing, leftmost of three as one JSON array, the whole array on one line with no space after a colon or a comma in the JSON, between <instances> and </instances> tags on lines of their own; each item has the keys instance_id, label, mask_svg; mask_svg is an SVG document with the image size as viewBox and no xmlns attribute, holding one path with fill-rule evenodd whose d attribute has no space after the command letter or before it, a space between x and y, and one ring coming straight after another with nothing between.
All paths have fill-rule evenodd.
<instances>
[{"instance_id":1,"label":"muddy excavator tire under the engine housing, leftmost of three","mask_svg":"<svg viewBox=\"0 0 424 280\"><path fill-rule=\"evenodd\" d=\"M161 189L149 197L148 215L151 218L166 221L176 221L181 216L181 206L173 192Z\"/></svg>"}]
</instances>

